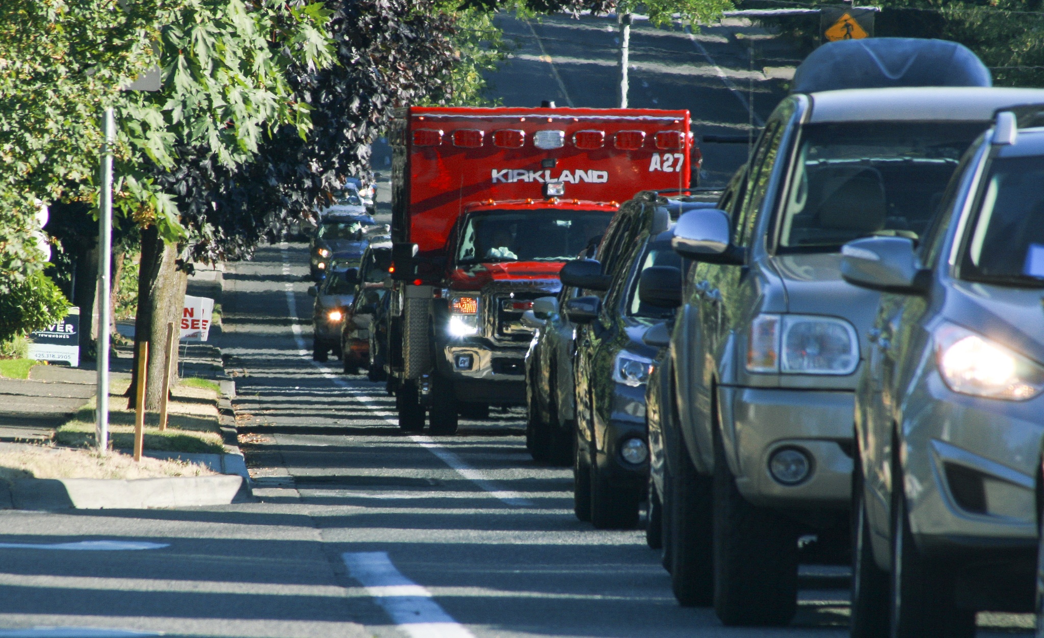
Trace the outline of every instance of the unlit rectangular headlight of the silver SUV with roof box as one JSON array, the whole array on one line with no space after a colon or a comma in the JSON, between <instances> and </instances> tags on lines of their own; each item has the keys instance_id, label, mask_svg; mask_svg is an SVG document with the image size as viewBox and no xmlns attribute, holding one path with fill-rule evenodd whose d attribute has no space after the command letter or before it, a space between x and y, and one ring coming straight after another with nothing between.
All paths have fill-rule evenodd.
<instances>
[{"instance_id":1,"label":"unlit rectangular headlight of the silver SUV with roof box","mask_svg":"<svg viewBox=\"0 0 1044 638\"><path fill-rule=\"evenodd\" d=\"M814 314L759 314L748 335L746 371L850 375L859 365L859 339L845 320Z\"/></svg>"}]
</instances>

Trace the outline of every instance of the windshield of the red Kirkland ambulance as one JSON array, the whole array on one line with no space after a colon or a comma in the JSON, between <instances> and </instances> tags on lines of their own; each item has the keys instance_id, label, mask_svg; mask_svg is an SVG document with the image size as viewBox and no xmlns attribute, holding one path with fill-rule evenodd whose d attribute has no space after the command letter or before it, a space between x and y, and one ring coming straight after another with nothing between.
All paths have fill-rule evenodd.
<instances>
[{"instance_id":1,"label":"windshield of the red Kirkland ambulance","mask_svg":"<svg viewBox=\"0 0 1044 638\"><path fill-rule=\"evenodd\" d=\"M565 261L606 232L614 211L482 211L464 223L458 264Z\"/></svg>"}]
</instances>

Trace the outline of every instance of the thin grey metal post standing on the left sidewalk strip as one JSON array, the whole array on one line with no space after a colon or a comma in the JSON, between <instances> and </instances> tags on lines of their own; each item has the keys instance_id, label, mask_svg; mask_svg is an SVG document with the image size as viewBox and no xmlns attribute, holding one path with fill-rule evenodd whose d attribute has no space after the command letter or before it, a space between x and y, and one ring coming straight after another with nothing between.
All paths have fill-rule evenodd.
<instances>
[{"instance_id":1,"label":"thin grey metal post standing on the left sidewalk strip","mask_svg":"<svg viewBox=\"0 0 1044 638\"><path fill-rule=\"evenodd\" d=\"M113 253L113 144L116 141L116 117L113 109L105 109L102 131L105 145L101 150L101 206L98 211L98 396L97 422L94 429L94 441L98 445L98 453L109 450L109 325L112 308L110 308L110 290L112 289Z\"/></svg>"}]
</instances>

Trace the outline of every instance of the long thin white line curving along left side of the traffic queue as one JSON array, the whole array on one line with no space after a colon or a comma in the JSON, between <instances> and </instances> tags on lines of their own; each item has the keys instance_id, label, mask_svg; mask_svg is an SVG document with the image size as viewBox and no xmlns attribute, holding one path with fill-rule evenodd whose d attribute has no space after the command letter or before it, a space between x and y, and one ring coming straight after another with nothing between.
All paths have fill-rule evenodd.
<instances>
[{"instance_id":1,"label":"long thin white line curving along left side of the traffic queue","mask_svg":"<svg viewBox=\"0 0 1044 638\"><path fill-rule=\"evenodd\" d=\"M288 247L289 246L286 244L285 241L280 244L280 251L283 254L283 275L290 274L289 255L287 254ZM333 382L334 385L337 385L338 387L343 387L346 389L353 389L353 391L360 389L358 386L352 385L345 379L334 374L326 365L323 365L318 361L313 361L311 359L311 355L309 354L308 350L305 349L305 339L302 336L301 325L298 324L298 301L293 297L293 284L290 282L286 282L286 305L290 311L290 321L291 321L290 326L293 330L293 340L298 345L299 354L302 357L307 358L311 362L311 364L314 365L316 369L318 369L318 371L323 374L323 376L326 379L329 379L331 382ZM382 409L384 406L381 405L378 399L361 394L355 395L353 398L364 405L369 405L374 410L374 416L379 417L385 423L398 427L399 425L398 418L390 418L385 416L386 412L383 412ZM420 445L421 447L423 447L424 449L428 450L435 456L437 456L440 459L442 459L443 463L445 463L454 471L456 471L457 474L474 482L483 491L489 492L491 496L502 500L508 505L515 505L517 507L532 506L533 504L532 501L522 498L522 495L519 494L518 492L501 490L496 483L487 479L480 470L475 470L473 468L468 467L468 465L464 460L461 460L459 456L440 446L430 436L412 435L410 436L410 440Z\"/></svg>"}]
</instances>

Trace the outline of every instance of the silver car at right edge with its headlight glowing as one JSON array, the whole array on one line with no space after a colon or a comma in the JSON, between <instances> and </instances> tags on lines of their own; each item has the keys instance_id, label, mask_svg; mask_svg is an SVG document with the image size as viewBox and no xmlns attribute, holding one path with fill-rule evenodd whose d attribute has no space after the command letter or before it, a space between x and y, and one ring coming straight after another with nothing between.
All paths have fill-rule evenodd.
<instances>
[{"instance_id":1,"label":"silver car at right edge with its headlight glowing","mask_svg":"<svg viewBox=\"0 0 1044 638\"><path fill-rule=\"evenodd\" d=\"M918 240L841 249L845 280L881 293L855 393L853 636L970 637L977 611L1035 610L1044 443L1037 99L998 113Z\"/></svg>"}]
</instances>

